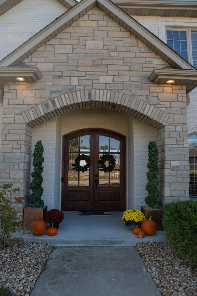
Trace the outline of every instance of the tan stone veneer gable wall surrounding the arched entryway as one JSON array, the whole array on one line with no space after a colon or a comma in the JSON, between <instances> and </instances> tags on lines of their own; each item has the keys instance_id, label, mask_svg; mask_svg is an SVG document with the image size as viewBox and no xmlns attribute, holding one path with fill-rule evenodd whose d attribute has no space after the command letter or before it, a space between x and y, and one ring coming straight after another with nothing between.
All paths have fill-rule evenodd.
<instances>
[{"instance_id":1,"label":"tan stone veneer gable wall surrounding the arched entryway","mask_svg":"<svg viewBox=\"0 0 197 296\"><path fill-rule=\"evenodd\" d=\"M32 127L73 110L104 108L158 130L162 201L188 198L185 87L148 80L154 68L167 64L147 46L94 8L25 62L37 66L43 77L37 83L5 85L2 179L18 183L26 194ZM128 138L131 142L132 134Z\"/></svg>"}]
</instances>

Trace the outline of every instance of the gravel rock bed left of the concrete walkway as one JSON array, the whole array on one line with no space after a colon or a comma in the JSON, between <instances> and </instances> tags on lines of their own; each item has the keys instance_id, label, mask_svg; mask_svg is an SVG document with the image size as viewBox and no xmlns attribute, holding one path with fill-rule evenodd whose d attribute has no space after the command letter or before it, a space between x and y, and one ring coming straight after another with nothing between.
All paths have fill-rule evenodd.
<instances>
[{"instance_id":1,"label":"gravel rock bed left of the concrete walkway","mask_svg":"<svg viewBox=\"0 0 197 296\"><path fill-rule=\"evenodd\" d=\"M52 250L50 245L28 242L0 250L0 286L17 296L29 296Z\"/></svg>"}]
</instances>

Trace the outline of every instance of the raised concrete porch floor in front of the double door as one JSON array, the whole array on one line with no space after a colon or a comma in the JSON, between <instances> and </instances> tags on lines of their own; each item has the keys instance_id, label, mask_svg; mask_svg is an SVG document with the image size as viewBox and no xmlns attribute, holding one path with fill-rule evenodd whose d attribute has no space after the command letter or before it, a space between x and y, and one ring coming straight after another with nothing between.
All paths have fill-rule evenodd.
<instances>
[{"instance_id":1,"label":"raised concrete porch floor in front of the double door","mask_svg":"<svg viewBox=\"0 0 197 296\"><path fill-rule=\"evenodd\" d=\"M136 246L141 242L167 242L164 231L155 235L136 238L133 231L123 224L123 212L111 212L106 215L78 215L78 211L64 211L65 220L60 223L58 233L49 236L33 234L13 234L25 242L42 242L52 246ZM49 228L47 224L47 229Z\"/></svg>"}]
</instances>

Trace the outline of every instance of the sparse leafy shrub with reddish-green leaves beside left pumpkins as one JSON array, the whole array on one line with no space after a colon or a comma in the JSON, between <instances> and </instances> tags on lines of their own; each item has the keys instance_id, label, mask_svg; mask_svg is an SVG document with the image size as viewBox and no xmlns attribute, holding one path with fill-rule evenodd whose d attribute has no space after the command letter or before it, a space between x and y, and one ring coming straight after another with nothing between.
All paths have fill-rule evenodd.
<instances>
[{"instance_id":1,"label":"sparse leafy shrub with reddish-green leaves beside left pumpkins","mask_svg":"<svg viewBox=\"0 0 197 296\"><path fill-rule=\"evenodd\" d=\"M12 243L11 234L22 231L30 232L30 226L21 220L17 205L26 198L12 196L20 188L11 189L13 184L0 185L0 247L5 248Z\"/></svg>"}]
</instances>

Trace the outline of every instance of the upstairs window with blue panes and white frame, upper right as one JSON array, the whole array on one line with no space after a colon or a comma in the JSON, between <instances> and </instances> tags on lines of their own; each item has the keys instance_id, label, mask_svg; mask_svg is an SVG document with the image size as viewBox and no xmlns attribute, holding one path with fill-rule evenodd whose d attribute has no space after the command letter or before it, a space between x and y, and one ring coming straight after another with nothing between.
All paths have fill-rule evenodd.
<instances>
[{"instance_id":1,"label":"upstairs window with blue panes and white frame, upper right","mask_svg":"<svg viewBox=\"0 0 197 296\"><path fill-rule=\"evenodd\" d=\"M168 46L197 68L197 30L167 30L166 40Z\"/></svg>"}]
</instances>

